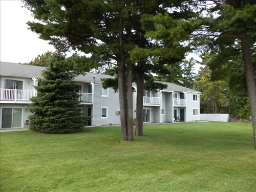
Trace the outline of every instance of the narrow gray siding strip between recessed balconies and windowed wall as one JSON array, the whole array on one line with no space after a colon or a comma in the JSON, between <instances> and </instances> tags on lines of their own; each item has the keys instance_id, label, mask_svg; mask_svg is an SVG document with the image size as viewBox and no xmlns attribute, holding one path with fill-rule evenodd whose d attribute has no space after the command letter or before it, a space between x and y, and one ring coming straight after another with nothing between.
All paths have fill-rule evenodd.
<instances>
[{"instance_id":1,"label":"narrow gray siding strip between recessed balconies and windowed wall","mask_svg":"<svg viewBox=\"0 0 256 192\"><path fill-rule=\"evenodd\" d=\"M101 126L101 85L93 85L93 121L92 125Z\"/></svg>"}]
</instances>

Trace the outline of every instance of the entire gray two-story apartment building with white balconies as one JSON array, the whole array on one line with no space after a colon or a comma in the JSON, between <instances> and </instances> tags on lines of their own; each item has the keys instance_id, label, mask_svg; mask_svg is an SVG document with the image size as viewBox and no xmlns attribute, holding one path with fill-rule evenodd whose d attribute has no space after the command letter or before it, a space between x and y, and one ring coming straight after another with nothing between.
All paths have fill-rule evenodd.
<instances>
[{"instance_id":1,"label":"entire gray two-story apartment building with white balconies","mask_svg":"<svg viewBox=\"0 0 256 192\"><path fill-rule=\"evenodd\" d=\"M44 67L1 62L0 79L0 129L24 127L31 114L28 104L36 96L34 86L41 78ZM101 78L109 75L87 73L75 77L80 92L82 113L93 116L89 125L120 124L119 95L112 88L102 89ZM157 93L144 91L144 122L174 122L199 120L200 92L167 83L167 89ZM135 86L136 89L136 86ZM136 118L136 93L133 96Z\"/></svg>"}]
</instances>

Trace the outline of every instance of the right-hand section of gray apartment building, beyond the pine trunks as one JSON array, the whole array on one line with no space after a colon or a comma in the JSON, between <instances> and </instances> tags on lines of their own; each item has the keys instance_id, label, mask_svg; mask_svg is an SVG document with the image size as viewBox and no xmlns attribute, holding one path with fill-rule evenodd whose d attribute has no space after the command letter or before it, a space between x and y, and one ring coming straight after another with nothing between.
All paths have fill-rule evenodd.
<instances>
[{"instance_id":1,"label":"right-hand section of gray apartment building, beyond the pine trunks","mask_svg":"<svg viewBox=\"0 0 256 192\"><path fill-rule=\"evenodd\" d=\"M156 93L144 91L143 122L200 120L200 92L169 82L162 83L167 85L166 89ZM136 93L133 101L136 109Z\"/></svg>"}]
</instances>

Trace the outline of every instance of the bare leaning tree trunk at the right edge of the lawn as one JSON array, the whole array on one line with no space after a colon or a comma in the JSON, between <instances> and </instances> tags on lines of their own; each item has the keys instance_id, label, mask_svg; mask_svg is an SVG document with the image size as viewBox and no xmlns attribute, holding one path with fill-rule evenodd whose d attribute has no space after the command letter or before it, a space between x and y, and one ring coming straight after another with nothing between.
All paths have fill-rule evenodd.
<instances>
[{"instance_id":1,"label":"bare leaning tree trunk at the right edge of the lawn","mask_svg":"<svg viewBox=\"0 0 256 192\"><path fill-rule=\"evenodd\" d=\"M244 32L242 34L243 60L244 60L244 69L245 69L245 75L246 75L248 95L249 95L253 138L254 138L254 148L256 150L256 90L255 90L255 79L253 74L249 45L250 44L248 40L248 35L246 32Z\"/></svg>"}]
</instances>

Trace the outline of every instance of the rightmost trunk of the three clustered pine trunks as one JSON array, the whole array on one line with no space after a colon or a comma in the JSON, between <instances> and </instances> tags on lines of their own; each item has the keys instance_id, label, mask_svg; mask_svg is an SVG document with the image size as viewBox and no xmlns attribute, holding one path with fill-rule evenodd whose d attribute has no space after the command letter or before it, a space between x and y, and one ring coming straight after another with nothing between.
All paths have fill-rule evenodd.
<instances>
[{"instance_id":1,"label":"rightmost trunk of the three clustered pine trunks","mask_svg":"<svg viewBox=\"0 0 256 192\"><path fill-rule=\"evenodd\" d=\"M143 90L144 90L144 74L137 73L137 98L136 98L136 136L143 136Z\"/></svg>"}]
</instances>

